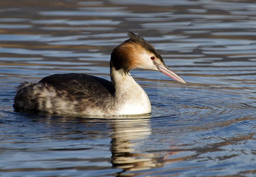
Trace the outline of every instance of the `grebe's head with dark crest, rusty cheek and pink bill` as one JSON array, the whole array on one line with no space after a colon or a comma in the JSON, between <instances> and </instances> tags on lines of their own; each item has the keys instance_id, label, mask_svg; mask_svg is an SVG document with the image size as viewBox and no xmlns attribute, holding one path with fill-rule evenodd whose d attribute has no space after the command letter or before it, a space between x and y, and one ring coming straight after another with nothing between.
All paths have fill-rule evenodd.
<instances>
[{"instance_id":1,"label":"grebe's head with dark crest, rusty cheek and pink bill","mask_svg":"<svg viewBox=\"0 0 256 177\"><path fill-rule=\"evenodd\" d=\"M128 74L133 68L158 70L161 73L185 83L177 74L164 64L157 50L143 37L128 32L129 39L117 46L112 54L110 65L122 74Z\"/></svg>"}]
</instances>

